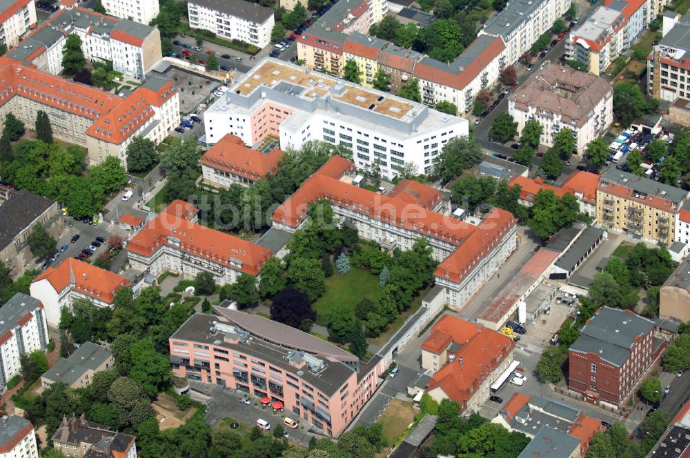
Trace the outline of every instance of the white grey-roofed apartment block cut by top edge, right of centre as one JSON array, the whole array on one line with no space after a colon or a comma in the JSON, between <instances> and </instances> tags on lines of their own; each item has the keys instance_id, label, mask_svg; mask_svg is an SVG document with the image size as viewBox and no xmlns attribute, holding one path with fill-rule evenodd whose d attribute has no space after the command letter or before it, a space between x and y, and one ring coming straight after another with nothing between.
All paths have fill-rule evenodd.
<instances>
[{"instance_id":1,"label":"white grey-roofed apartment block cut by top edge, right of centre","mask_svg":"<svg viewBox=\"0 0 690 458\"><path fill-rule=\"evenodd\" d=\"M513 65L542 34L551 30L570 5L570 0L511 0L486 21L480 34L500 37L506 48L502 54L504 65Z\"/></svg>"}]
</instances>

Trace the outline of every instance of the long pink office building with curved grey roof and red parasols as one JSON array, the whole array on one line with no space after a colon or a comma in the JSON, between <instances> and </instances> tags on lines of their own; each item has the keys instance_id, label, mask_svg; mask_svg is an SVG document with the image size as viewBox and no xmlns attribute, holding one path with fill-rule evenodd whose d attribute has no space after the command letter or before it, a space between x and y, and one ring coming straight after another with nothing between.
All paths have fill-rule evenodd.
<instances>
[{"instance_id":1,"label":"long pink office building with curved grey roof and red parasols","mask_svg":"<svg viewBox=\"0 0 690 458\"><path fill-rule=\"evenodd\" d=\"M217 315L192 315L170 336L172 372L258 397L306 429L339 436L385 370L378 356L359 361L277 321L222 305L214 311Z\"/></svg>"}]
</instances>

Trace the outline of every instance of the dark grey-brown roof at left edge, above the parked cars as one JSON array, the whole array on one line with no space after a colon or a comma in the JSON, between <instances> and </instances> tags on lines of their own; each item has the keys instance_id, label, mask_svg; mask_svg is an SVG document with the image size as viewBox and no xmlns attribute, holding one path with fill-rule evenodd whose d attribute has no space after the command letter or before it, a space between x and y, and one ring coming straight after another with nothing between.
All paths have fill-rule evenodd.
<instances>
[{"instance_id":1,"label":"dark grey-brown roof at left edge, above the parked cars","mask_svg":"<svg viewBox=\"0 0 690 458\"><path fill-rule=\"evenodd\" d=\"M0 203L0 250L55 203L31 192L10 191L10 194L8 201Z\"/></svg>"}]
</instances>

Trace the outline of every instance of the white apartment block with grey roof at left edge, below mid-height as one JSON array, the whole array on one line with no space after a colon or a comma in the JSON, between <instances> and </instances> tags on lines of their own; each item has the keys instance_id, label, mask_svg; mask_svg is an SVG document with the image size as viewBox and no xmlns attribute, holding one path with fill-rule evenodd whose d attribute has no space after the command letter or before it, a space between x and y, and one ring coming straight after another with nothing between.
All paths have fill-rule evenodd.
<instances>
[{"instance_id":1,"label":"white apartment block with grey roof at left edge, below mid-height","mask_svg":"<svg viewBox=\"0 0 690 458\"><path fill-rule=\"evenodd\" d=\"M17 292L0 308L0 382L2 390L19 374L21 355L46 350L48 326L43 304Z\"/></svg>"}]
</instances>

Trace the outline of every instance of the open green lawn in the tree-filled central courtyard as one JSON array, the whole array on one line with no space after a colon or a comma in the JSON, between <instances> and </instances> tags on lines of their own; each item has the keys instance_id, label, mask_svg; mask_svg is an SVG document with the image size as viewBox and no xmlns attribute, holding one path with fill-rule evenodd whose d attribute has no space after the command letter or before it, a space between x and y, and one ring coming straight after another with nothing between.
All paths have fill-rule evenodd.
<instances>
[{"instance_id":1,"label":"open green lawn in the tree-filled central courtyard","mask_svg":"<svg viewBox=\"0 0 690 458\"><path fill-rule=\"evenodd\" d=\"M335 272L326 279L326 292L313 305L316 310L316 322L327 326L328 315L335 306L343 304L354 310L364 297L377 301L380 295L378 275L371 275L368 270L355 268L345 275Z\"/></svg>"}]
</instances>

